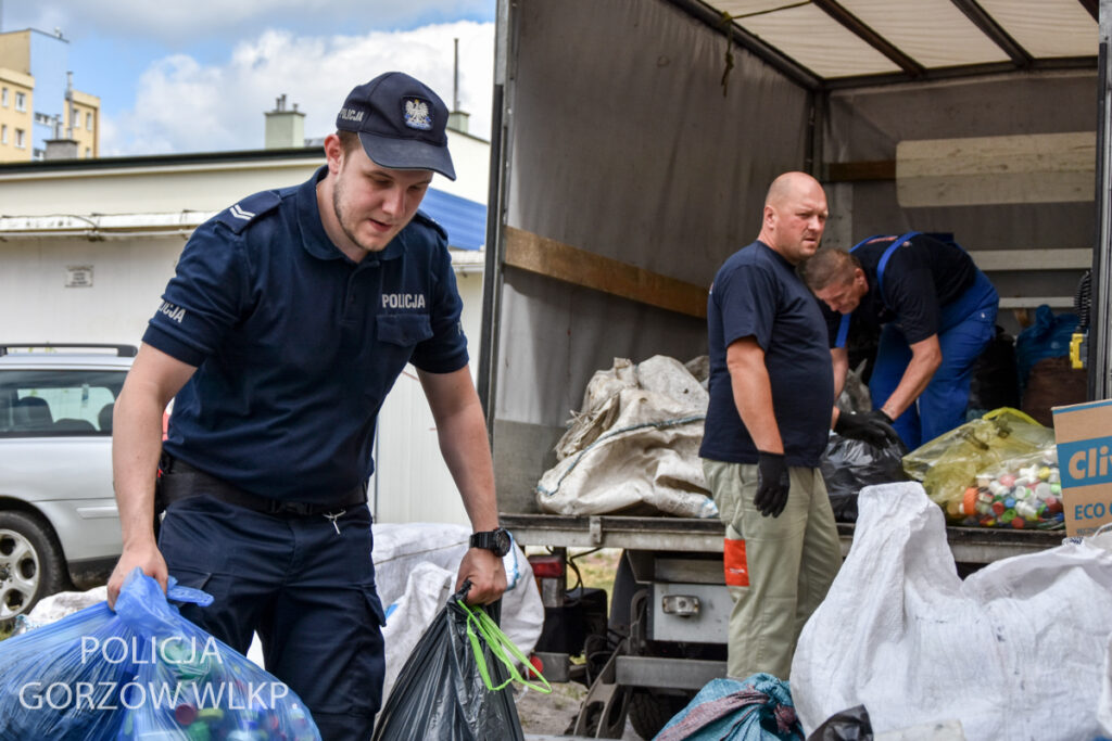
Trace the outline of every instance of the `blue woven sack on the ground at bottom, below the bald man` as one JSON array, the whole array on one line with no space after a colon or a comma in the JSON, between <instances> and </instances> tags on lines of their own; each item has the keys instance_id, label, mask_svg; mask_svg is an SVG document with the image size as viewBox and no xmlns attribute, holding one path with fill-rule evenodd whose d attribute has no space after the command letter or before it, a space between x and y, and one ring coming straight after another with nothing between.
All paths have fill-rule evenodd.
<instances>
[{"instance_id":1,"label":"blue woven sack on the ground at bottom, below the bald man","mask_svg":"<svg viewBox=\"0 0 1112 741\"><path fill-rule=\"evenodd\" d=\"M655 741L803 741L787 682L772 674L713 679Z\"/></svg>"}]
</instances>

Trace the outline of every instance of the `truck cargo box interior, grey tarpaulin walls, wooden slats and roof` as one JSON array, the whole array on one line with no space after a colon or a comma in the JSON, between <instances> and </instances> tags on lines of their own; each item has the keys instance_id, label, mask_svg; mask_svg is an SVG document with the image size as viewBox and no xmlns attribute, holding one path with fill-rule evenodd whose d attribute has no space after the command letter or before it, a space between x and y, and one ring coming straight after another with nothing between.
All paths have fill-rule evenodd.
<instances>
[{"instance_id":1,"label":"truck cargo box interior, grey tarpaulin walls, wooden slats and roof","mask_svg":"<svg viewBox=\"0 0 1112 741\"><path fill-rule=\"evenodd\" d=\"M1096 16L1098 0L506 3L478 383L499 497L555 462L535 451L595 369L706 352L707 289L781 172L824 183L826 246L952 232L1002 308L1072 306L1098 222Z\"/></svg>"}]
</instances>

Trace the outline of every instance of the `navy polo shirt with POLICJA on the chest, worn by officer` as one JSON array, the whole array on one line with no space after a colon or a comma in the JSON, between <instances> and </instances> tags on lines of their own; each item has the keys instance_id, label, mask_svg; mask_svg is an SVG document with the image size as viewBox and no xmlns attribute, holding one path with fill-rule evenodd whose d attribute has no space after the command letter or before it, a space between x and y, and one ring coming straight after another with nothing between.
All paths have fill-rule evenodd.
<instances>
[{"instance_id":1,"label":"navy polo shirt with POLICJA on the chest, worn by officer","mask_svg":"<svg viewBox=\"0 0 1112 741\"><path fill-rule=\"evenodd\" d=\"M407 362L467 364L444 231L418 212L354 262L321 226L325 173L201 224L143 334L197 367L167 452L262 497L322 503L374 471L378 410Z\"/></svg>"}]
</instances>

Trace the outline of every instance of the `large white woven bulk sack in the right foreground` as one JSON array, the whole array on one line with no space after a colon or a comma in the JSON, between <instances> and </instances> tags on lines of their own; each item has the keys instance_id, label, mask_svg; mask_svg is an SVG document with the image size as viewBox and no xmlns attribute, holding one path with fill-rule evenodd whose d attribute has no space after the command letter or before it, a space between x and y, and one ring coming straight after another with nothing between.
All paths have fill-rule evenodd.
<instances>
[{"instance_id":1,"label":"large white woven bulk sack in the right foreground","mask_svg":"<svg viewBox=\"0 0 1112 741\"><path fill-rule=\"evenodd\" d=\"M1112 552L1098 538L963 582L942 510L917 482L866 487L858 507L853 547L792 662L807 732L864 704L876 732L959 719L970 741L1101 733Z\"/></svg>"}]
</instances>

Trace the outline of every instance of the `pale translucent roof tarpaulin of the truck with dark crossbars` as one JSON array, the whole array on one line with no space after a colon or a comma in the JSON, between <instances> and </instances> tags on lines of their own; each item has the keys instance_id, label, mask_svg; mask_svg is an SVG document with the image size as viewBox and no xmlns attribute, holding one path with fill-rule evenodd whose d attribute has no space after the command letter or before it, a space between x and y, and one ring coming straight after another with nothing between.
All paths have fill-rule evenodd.
<instances>
[{"instance_id":1,"label":"pale translucent roof tarpaulin of the truck with dark crossbars","mask_svg":"<svg viewBox=\"0 0 1112 741\"><path fill-rule=\"evenodd\" d=\"M698 4L719 17L728 13L737 33L754 48L770 48L770 61L813 86L845 78L917 79L940 72L1027 69L1096 54L1096 0L716 0ZM786 59L776 61L777 53Z\"/></svg>"}]
</instances>

